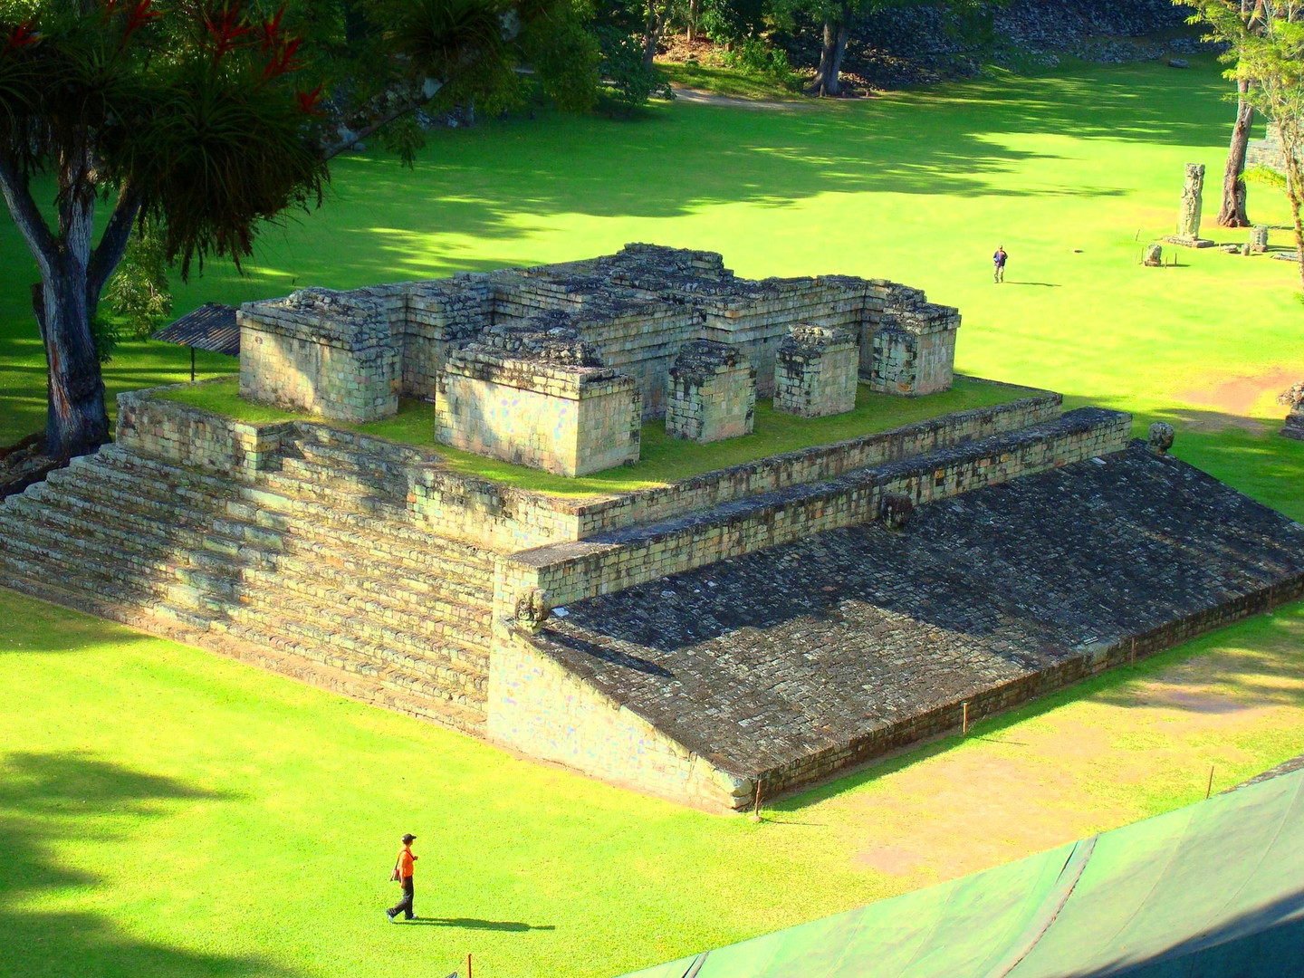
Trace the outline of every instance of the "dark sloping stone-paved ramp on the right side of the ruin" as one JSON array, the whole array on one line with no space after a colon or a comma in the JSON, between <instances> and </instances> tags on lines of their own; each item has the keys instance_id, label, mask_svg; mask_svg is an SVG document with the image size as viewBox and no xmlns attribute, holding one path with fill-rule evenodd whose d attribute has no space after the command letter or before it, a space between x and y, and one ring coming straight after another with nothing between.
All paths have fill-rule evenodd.
<instances>
[{"instance_id":1,"label":"dark sloping stone-paved ramp on the right side of the ruin","mask_svg":"<svg viewBox=\"0 0 1304 978\"><path fill-rule=\"evenodd\" d=\"M576 602L533 642L768 795L957 728L962 702L973 720L1301 591L1304 526L1138 442L921 507L900 533L837 529Z\"/></svg>"}]
</instances>

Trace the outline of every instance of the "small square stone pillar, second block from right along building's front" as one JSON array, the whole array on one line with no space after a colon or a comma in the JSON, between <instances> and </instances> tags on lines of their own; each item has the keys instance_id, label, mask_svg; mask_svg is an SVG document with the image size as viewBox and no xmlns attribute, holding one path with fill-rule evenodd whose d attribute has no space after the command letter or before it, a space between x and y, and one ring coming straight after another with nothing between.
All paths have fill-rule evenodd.
<instances>
[{"instance_id":1,"label":"small square stone pillar, second block from right along building's front","mask_svg":"<svg viewBox=\"0 0 1304 978\"><path fill-rule=\"evenodd\" d=\"M855 336L828 326L793 326L778 347L775 411L799 417L855 408L861 351Z\"/></svg>"}]
</instances>

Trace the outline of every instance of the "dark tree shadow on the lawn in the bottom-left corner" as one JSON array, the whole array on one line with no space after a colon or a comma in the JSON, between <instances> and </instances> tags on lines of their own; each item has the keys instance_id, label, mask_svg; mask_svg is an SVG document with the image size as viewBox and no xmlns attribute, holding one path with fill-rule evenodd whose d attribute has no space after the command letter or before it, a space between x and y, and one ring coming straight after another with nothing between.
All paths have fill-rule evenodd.
<instances>
[{"instance_id":1,"label":"dark tree shadow on the lawn in the bottom-left corner","mask_svg":"<svg viewBox=\"0 0 1304 978\"><path fill-rule=\"evenodd\" d=\"M39 901L95 876L68 858L113 822L146 822L166 802L224 795L77 752L0 756L0 973L95 978L291 978L253 957L171 948L93 913L42 911ZM184 882L179 880L179 885Z\"/></svg>"}]
</instances>

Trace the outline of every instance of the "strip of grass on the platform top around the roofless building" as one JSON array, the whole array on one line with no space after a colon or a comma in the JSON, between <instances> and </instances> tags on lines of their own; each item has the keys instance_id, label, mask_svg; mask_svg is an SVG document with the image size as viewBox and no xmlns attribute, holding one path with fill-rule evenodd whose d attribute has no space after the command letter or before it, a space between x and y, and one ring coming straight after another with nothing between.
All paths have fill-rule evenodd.
<instances>
[{"instance_id":1,"label":"strip of grass on the platform top around the roofless building","mask_svg":"<svg viewBox=\"0 0 1304 978\"><path fill-rule=\"evenodd\" d=\"M554 496L591 496L668 485L767 455L885 432L956 411L1004 404L1029 394L1022 387L987 383L970 377L957 377L951 390L926 398L875 394L862 385L857 390L855 409L832 417L784 415L775 411L769 400L758 400L755 430L750 436L698 445L666 434L664 421L648 421L643 425L642 458L638 463L578 479L554 476L438 445L434 441L434 406L420 400L403 400L394 417L343 426L407 445L433 446L447 459L449 468L463 475ZM162 396L256 424L309 417L245 400L236 390L235 378L230 382L176 387L163 391Z\"/></svg>"}]
</instances>

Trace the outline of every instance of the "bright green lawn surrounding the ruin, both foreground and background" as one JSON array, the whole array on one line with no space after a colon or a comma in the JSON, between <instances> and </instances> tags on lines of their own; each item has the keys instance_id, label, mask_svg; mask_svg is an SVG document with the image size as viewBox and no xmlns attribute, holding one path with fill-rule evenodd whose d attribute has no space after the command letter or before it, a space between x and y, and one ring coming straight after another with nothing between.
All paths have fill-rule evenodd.
<instances>
[{"instance_id":1,"label":"bright green lawn surrounding the ruin, both foreground and background","mask_svg":"<svg viewBox=\"0 0 1304 978\"><path fill-rule=\"evenodd\" d=\"M1304 377L1296 269L1183 252L1181 164L1215 207L1228 130L1208 63L990 77L799 111L670 104L632 124L437 134L408 173L335 168L266 236L283 295L712 248L741 274L852 273L965 317L958 368L1178 425L1176 454L1304 518L1304 446L1271 395ZM1284 206L1251 192L1258 220ZM1222 232L1219 240L1245 240ZM1274 232L1274 244L1284 232ZM996 244L1008 282L990 280ZM0 441L42 424L30 262L0 224ZM184 378L128 346L115 390ZM210 370L230 370L203 359ZM0 592L0 973L370 978L609 975L1170 810L1304 748L1304 609L1279 609L776 806L686 811L211 655ZM419 836L421 926L385 923Z\"/></svg>"}]
</instances>

